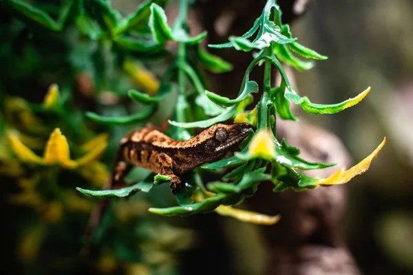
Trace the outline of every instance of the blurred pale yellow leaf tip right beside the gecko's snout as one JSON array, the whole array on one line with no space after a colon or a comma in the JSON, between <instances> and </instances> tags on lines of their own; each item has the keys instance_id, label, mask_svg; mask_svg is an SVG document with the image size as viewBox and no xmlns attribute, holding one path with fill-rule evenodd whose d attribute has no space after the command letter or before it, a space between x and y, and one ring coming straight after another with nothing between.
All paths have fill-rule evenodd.
<instances>
[{"instance_id":1,"label":"blurred pale yellow leaf tip right beside the gecko's snout","mask_svg":"<svg viewBox=\"0 0 413 275\"><path fill-rule=\"evenodd\" d=\"M261 130L256 133L248 146L248 153L255 157L272 159L275 153L275 145L271 133Z\"/></svg>"}]
</instances>

